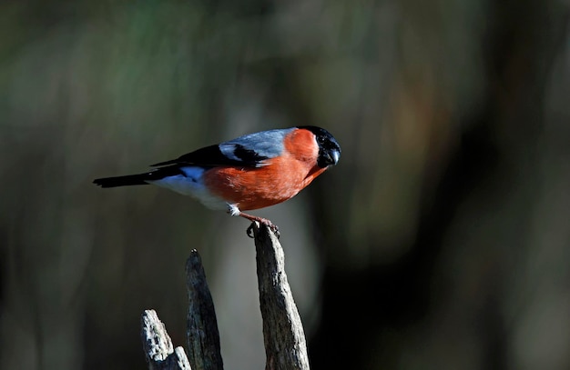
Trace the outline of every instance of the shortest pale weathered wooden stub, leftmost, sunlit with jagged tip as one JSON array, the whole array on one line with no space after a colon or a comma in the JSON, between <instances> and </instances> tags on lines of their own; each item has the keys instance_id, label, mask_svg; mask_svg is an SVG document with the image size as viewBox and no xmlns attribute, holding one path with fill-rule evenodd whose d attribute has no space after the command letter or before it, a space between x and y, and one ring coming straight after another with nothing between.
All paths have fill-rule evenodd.
<instances>
[{"instance_id":1,"label":"shortest pale weathered wooden stub, leftmost, sunlit with jagged tip","mask_svg":"<svg viewBox=\"0 0 570 370\"><path fill-rule=\"evenodd\" d=\"M155 310L146 310L141 317L141 336L150 370L191 370L182 347L173 349L165 325Z\"/></svg>"}]
</instances>

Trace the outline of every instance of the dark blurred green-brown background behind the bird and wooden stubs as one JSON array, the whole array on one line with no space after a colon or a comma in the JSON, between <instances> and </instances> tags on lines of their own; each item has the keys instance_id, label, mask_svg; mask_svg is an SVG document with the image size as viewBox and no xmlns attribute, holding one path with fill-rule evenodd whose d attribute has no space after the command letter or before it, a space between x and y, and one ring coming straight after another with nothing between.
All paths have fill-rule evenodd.
<instances>
[{"instance_id":1,"label":"dark blurred green-brown background behind the bird and wooden stubs","mask_svg":"<svg viewBox=\"0 0 570 370\"><path fill-rule=\"evenodd\" d=\"M264 368L245 220L100 189L254 131L339 165L280 225L314 369L570 368L567 0L0 4L0 367L145 368L202 256L225 367Z\"/></svg>"}]
</instances>

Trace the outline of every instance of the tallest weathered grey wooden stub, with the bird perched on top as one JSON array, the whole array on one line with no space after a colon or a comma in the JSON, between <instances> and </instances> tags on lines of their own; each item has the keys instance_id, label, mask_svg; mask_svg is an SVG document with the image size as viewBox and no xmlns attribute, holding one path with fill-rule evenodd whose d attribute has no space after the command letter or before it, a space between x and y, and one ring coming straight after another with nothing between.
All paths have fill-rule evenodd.
<instances>
[{"instance_id":1,"label":"tallest weathered grey wooden stub, with the bird perched on top","mask_svg":"<svg viewBox=\"0 0 570 370\"><path fill-rule=\"evenodd\" d=\"M255 224L253 235L267 356L265 368L309 369L303 325L285 274L283 248L266 225Z\"/></svg>"}]
</instances>

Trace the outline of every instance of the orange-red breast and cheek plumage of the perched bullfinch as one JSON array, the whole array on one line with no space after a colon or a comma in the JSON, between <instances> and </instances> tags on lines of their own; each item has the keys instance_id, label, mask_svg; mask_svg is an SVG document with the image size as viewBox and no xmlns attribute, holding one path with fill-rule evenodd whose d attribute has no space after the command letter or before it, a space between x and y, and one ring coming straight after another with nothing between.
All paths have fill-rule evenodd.
<instances>
[{"instance_id":1,"label":"orange-red breast and cheek plumage of the perched bullfinch","mask_svg":"<svg viewBox=\"0 0 570 370\"><path fill-rule=\"evenodd\" d=\"M321 175L314 136L297 130L285 140L282 155L258 168L214 167L204 174L210 192L242 211L276 205L297 195Z\"/></svg>"}]
</instances>

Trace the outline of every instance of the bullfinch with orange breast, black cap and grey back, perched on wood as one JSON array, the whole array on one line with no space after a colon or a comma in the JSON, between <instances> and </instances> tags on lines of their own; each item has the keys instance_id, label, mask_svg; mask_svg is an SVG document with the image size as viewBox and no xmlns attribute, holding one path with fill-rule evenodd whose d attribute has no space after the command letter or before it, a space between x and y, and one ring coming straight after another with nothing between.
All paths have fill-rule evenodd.
<instances>
[{"instance_id":1,"label":"bullfinch with orange breast, black cap and grey back, perched on wood","mask_svg":"<svg viewBox=\"0 0 570 370\"><path fill-rule=\"evenodd\" d=\"M211 209L225 209L249 221L278 227L242 211L277 205L297 195L341 157L327 130L298 126L239 136L177 159L144 174L97 178L101 187L158 185L190 195ZM251 228L248 229L250 235Z\"/></svg>"}]
</instances>

